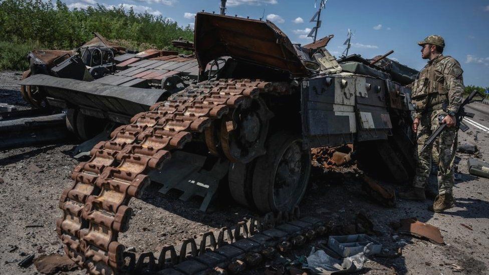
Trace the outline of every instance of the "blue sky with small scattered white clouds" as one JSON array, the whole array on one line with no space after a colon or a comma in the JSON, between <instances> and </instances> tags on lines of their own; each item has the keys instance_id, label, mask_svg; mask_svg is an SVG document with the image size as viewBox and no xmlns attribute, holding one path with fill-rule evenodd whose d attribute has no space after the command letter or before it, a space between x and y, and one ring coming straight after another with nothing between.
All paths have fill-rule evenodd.
<instances>
[{"instance_id":1,"label":"blue sky with small scattered white clouds","mask_svg":"<svg viewBox=\"0 0 489 275\"><path fill-rule=\"evenodd\" d=\"M319 0L317 0L319 2ZM273 21L294 43L311 42L305 37L314 13L315 0L228 0L227 15L265 18ZM194 14L219 12L219 0L67 0L70 8L95 4L124 5L137 12L148 11L181 26L193 25ZM340 56L348 29L354 30L349 53L365 58L394 50L390 57L420 70L417 41L437 34L445 39L444 54L457 59L464 70L465 85L489 87L489 0L328 0L321 15L318 38L334 34L327 49Z\"/></svg>"}]
</instances>

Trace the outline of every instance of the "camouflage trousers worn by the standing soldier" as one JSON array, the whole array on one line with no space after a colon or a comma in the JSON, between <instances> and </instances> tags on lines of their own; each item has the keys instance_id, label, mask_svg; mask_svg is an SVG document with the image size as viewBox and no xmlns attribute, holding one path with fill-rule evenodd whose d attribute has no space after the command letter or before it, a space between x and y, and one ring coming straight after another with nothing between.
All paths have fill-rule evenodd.
<instances>
[{"instance_id":1,"label":"camouflage trousers worn by the standing soldier","mask_svg":"<svg viewBox=\"0 0 489 275\"><path fill-rule=\"evenodd\" d=\"M439 126L438 115L440 114L444 114L443 110L435 110L423 114L420 119L417 131L416 176L413 185L420 188L426 186L431 171L431 160L433 159L438 161L438 192L444 194L452 192L454 183L452 163L452 150L454 148L452 146L457 128L446 128L434 142L434 148L430 146L421 152L425 141Z\"/></svg>"}]
</instances>

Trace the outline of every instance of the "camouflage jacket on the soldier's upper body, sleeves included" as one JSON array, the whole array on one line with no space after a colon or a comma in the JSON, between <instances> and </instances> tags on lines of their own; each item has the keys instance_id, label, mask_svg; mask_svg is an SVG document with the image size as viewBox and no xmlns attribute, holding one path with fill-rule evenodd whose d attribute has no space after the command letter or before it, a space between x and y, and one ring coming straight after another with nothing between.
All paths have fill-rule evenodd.
<instances>
[{"instance_id":1,"label":"camouflage jacket on the soldier's upper body, sleeves included","mask_svg":"<svg viewBox=\"0 0 489 275\"><path fill-rule=\"evenodd\" d=\"M456 112L462 103L463 78L460 64L454 58L439 55L428 61L412 84L414 117L420 118L423 111L441 109Z\"/></svg>"}]
</instances>

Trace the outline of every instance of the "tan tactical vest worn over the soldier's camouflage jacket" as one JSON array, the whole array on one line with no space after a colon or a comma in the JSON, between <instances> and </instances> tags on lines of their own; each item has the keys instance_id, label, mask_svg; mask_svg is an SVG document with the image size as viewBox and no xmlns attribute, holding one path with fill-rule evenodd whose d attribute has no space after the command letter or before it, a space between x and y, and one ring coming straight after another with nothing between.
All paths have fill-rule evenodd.
<instances>
[{"instance_id":1,"label":"tan tactical vest worn over the soldier's camouflage jacket","mask_svg":"<svg viewBox=\"0 0 489 275\"><path fill-rule=\"evenodd\" d=\"M448 87L444 74L449 56L441 56L426 64L412 86L413 107L417 111L441 109L448 103Z\"/></svg>"}]
</instances>

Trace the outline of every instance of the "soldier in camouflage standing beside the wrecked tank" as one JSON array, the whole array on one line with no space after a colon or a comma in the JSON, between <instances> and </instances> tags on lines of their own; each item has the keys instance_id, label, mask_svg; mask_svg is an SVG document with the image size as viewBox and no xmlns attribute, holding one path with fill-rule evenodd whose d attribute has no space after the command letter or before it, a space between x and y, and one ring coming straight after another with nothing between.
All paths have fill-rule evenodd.
<instances>
[{"instance_id":1,"label":"soldier in camouflage standing beside the wrecked tank","mask_svg":"<svg viewBox=\"0 0 489 275\"><path fill-rule=\"evenodd\" d=\"M449 56L443 56L445 42L437 35L428 36L418 42L421 57L428 59L412 85L412 104L414 121L412 130L417 133L417 163L413 188L400 192L399 197L412 200L424 200L426 182L431 170L432 151L438 160L438 191L430 210L441 212L455 205L452 195L453 160L456 150L457 128L455 112L462 103L463 79L460 64ZM447 128L438 137L435 150L426 148L420 153L426 139L439 126L438 116L445 115L442 123ZM453 145L453 147L452 147Z\"/></svg>"}]
</instances>

